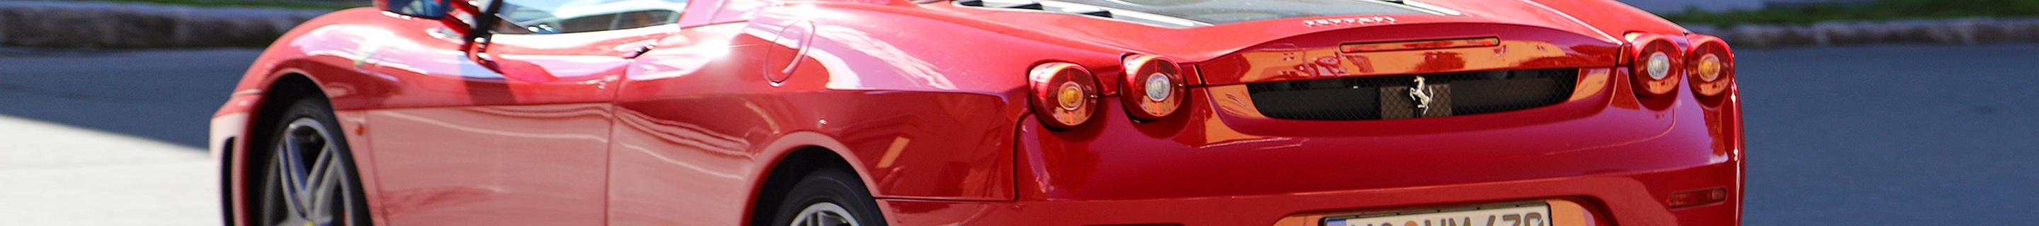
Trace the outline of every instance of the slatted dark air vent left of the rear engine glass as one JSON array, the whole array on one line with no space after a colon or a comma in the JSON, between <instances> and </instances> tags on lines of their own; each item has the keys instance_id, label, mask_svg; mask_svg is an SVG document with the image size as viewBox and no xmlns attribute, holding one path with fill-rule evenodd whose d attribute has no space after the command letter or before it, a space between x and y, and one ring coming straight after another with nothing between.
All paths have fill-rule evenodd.
<instances>
[{"instance_id":1,"label":"slatted dark air vent left of the rear engine glass","mask_svg":"<svg viewBox=\"0 0 2039 226\"><path fill-rule=\"evenodd\" d=\"M956 0L956 6L999 8L999 10L1028 10L1028 12L1054 12L1054 14L1079 14L1079 16L1093 16L1093 18L1107 18L1107 20L1126 20L1126 22L1138 22L1138 24L1148 24L1148 26L1166 26L1166 29L1211 26L1209 22L1197 22L1197 20L1189 20L1189 18L1177 18L1177 16L1164 16L1164 14L1148 14L1148 12L1123 10L1123 8L1105 8L1105 6L1079 4L1079 2L1058 2L1058 0Z\"/></svg>"}]
</instances>

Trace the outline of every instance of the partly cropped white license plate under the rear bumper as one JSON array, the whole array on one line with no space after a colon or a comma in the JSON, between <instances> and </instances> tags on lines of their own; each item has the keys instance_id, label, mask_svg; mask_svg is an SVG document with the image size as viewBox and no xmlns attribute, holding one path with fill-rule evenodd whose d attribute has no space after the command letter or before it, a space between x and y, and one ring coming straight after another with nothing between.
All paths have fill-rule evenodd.
<instances>
[{"instance_id":1,"label":"partly cropped white license plate under the rear bumper","mask_svg":"<svg viewBox=\"0 0 2039 226\"><path fill-rule=\"evenodd\" d=\"M1552 226L1550 204L1482 206L1323 218L1323 226Z\"/></svg>"}]
</instances>

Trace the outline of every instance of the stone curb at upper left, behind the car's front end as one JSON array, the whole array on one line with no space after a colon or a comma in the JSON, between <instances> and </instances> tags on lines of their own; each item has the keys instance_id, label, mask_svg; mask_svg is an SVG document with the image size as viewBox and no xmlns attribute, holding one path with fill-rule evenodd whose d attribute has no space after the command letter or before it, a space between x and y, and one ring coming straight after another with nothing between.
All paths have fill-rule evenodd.
<instances>
[{"instance_id":1,"label":"stone curb at upper left, behind the car's front end","mask_svg":"<svg viewBox=\"0 0 2039 226\"><path fill-rule=\"evenodd\" d=\"M0 45L47 49L267 47L328 10L126 2L0 2Z\"/></svg>"}]
</instances>

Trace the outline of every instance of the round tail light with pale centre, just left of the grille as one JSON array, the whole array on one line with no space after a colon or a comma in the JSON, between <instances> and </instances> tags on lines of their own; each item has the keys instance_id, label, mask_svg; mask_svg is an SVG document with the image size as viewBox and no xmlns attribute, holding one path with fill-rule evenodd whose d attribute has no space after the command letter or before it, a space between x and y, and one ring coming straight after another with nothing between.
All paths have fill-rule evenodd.
<instances>
[{"instance_id":1,"label":"round tail light with pale centre, just left of the grille","mask_svg":"<svg viewBox=\"0 0 2039 226\"><path fill-rule=\"evenodd\" d=\"M1183 108L1183 71L1181 65L1158 55L1132 55L1126 57L1126 79L1119 90L1119 100L1126 102L1126 112L1142 120L1158 120L1162 116L1174 114Z\"/></svg>"}]
</instances>

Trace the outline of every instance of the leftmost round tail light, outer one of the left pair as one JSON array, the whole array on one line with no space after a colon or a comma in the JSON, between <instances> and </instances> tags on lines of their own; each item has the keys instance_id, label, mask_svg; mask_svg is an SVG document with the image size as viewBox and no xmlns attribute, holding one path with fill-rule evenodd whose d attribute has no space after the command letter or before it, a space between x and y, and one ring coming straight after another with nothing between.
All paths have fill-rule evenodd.
<instances>
[{"instance_id":1,"label":"leftmost round tail light, outer one of the left pair","mask_svg":"<svg viewBox=\"0 0 2039 226\"><path fill-rule=\"evenodd\" d=\"M1097 79L1077 63L1042 63L1028 71L1034 116L1054 128L1070 128L1097 112Z\"/></svg>"}]
</instances>

